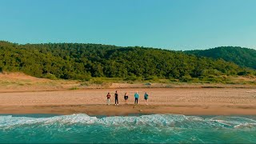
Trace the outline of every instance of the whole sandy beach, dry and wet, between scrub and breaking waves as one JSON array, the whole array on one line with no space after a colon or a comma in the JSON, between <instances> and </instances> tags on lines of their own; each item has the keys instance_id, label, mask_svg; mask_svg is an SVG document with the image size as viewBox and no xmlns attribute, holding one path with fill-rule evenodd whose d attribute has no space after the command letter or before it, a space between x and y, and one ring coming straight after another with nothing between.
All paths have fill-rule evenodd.
<instances>
[{"instance_id":1,"label":"whole sandy beach, dry and wet, between scrub and breaking waves","mask_svg":"<svg viewBox=\"0 0 256 144\"><path fill-rule=\"evenodd\" d=\"M0 93L0 114L186 114L186 115L256 115L254 88L173 88L173 89L120 89L119 105L114 106L115 89L58 90L41 92ZM134 106L134 92L140 98ZM147 91L149 105L143 94ZM106 106L110 92L111 105ZM123 95L129 94L129 105Z\"/></svg>"}]
</instances>

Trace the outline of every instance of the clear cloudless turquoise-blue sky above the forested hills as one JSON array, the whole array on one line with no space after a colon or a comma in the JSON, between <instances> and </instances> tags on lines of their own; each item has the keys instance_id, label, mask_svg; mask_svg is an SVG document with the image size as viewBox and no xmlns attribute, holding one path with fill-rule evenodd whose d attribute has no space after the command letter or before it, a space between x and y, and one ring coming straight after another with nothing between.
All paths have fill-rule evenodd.
<instances>
[{"instance_id":1,"label":"clear cloudless turquoise-blue sky above the forested hills","mask_svg":"<svg viewBox=\"0 0 256 144\"><path fill-rule=\"evenodd\" d=\"M0 40L256 49L256 0L0 0Z\"/></svg>"}]
</instances>

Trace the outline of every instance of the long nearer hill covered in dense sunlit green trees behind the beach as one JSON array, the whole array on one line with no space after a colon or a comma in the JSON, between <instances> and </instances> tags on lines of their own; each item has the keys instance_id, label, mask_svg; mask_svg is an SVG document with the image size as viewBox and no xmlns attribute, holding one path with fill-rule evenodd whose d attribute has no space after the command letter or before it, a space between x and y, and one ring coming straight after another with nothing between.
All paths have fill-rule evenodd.
<instances>
[{"instance_id":1,"label":"long nearer hill covered in dense sunlit green trees behind the beach","mask_svg":"<svg viewBox=\"0 0 256 144\"><path fill-rule=\"evenodd\" d=\"M199 78L245 74L246 71L222 59L198 58L170 50L79 43L18 45L10 42L0 42L0 70L64 79Z\"/></svg>"}]
</instances>

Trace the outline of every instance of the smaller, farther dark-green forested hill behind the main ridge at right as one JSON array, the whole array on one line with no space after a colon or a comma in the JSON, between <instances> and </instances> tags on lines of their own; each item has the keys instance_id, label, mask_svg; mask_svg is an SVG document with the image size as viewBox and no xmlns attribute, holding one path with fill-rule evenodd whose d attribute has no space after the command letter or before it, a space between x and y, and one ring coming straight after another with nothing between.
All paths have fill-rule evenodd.
<instances>
[{"instance_id":1,"label":"smaller, farther dark-green forested hill behind the main ridge at right","mask_svg":"<svg viewBox=\"0 0 256 144\"><path fill-rule=\"evenodd\" d=\"M190 50L185 51L185 53L215 59L222 58L228 62L234 62L239 66L246 66L256 69L256 50L254 49L234 46L222 46L209 50Z\"/></svg>"}]
</instances>

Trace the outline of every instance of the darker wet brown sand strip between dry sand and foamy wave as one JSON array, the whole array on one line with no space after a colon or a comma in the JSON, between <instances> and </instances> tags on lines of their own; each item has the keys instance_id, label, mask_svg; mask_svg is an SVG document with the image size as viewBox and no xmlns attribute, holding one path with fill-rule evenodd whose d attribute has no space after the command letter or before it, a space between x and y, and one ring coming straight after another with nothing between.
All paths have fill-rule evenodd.
<instances>
[{"instance_id":1,"label":"darker wet brown sand strip between dry sand and foamy wave","mask_svg":"<svg viewBox=\"0 0 256 144\"><path fill-rule=\"evenodd\" d=\"M0 114L88 114L127 116L129 114L256 115L256 106L162 106L134 105L42 105L0 106Z\"/></svg>"}]
</instances>

